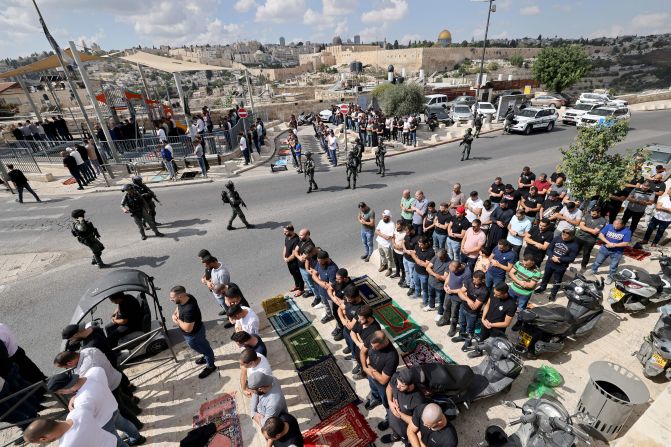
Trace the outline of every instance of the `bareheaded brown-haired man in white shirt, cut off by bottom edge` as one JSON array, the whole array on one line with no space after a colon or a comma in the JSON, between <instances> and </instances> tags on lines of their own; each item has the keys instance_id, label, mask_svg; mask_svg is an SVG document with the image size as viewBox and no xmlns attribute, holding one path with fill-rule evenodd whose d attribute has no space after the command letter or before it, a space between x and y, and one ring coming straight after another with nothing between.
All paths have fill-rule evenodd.
<instances>
[{"instance_id":1,"label":"bareheaded brown-haired man in white shirt, cut off by bottom edge","mask_svg":"<svg viewBox=\"0 0 671 447\"><path fill-rule=\"evenodd\" d=\"M48 444L58 440L59 447L116 447L117 438L98 427L95 419L83 408L72 410L64 421L40 418L23 432L26 442Z\"/></svg>"}]
</instances>

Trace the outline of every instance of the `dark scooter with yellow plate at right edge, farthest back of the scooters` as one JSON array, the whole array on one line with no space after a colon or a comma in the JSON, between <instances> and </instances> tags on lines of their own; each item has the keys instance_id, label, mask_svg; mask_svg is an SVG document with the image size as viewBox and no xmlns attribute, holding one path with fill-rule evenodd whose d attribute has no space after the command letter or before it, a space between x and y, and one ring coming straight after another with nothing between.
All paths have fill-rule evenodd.
<instances>
[{"instance_id":1,"label":"dark scooter with yellow plate at right edge, farthest back of the scooters","mask_svg":"<svg viewBox=\"0 0 671 447\"><path fill-rule=\"evenodd\" d=\"M661 272L650 274L638 267L627 267L617 272L608 302L613 312L640 312L648 304L661 304L671 299L671 256L660 252Z\"/></svg>"}]
</instances>

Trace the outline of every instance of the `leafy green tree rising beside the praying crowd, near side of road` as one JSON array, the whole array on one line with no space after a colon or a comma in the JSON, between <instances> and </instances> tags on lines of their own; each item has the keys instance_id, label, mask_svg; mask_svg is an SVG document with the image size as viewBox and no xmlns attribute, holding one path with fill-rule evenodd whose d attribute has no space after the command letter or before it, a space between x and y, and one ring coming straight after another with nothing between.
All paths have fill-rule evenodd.
<instances>
[{"instance_id":1,"label":"leafy green tree rising beside the praying crowd, near side of road","mask_svg":"<svg viewBox=\"0 0 671 447\"><path fill-rule=\"evenodd\" d=\"M569 188L575 197L602 199L621 189L632 177L640 150L625 154L609 153L629 132L626 120L612 126L582 127L568 148L561 148L561 171L570 179Z\"/></svg>"}]
</instances>

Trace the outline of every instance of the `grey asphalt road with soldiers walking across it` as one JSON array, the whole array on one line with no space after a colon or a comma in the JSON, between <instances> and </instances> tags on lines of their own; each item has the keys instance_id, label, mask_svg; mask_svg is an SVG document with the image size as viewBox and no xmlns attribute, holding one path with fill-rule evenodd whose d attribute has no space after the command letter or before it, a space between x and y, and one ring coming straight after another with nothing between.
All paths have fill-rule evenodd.
<instances>
[{"instance_id":1,"label":"grey asphalt road with soldiers walking across it","mask_svg":"<svg viewBox=\"0 0 671 447\"><path fill-rule=\"evenodd\" d=\"M668 120L668 112L635 114L632 130L619 149L668 142ZM146 241L140 240L132 219L120 212L120 192L53 198L43 205L23 207L3 196L2 252L61 252L63 257L58 265L26 274L0 290L0 321L14 328L20 344L45 371L52 371L61 328L70 321L88 285L102 274L90 265L90 252L69 233L69 214L74 208L86 209L98 226L106 246L105 262L139 268L156 278L168 313L172 310L168 290L182 284L198 298L205 318L214 319L218 306L199 282L202 267L196 253L200 249L209 249L223 261L232 280L243 288L252 305L258 306L261 300L292 285L280 258L283 225L292 222L297 229L309 227L315 242L328 250L339 266L356 275L356 265L362 262L355 219L359 201L373 207L378 217L390 209L395 219L405 188L423 189L429 200L440 202L449 198L454 182L461 182L466 193L477 190L484 196L495 176L515 183L524 165L536 174L551 173L561 158L559 148L568 146L575 134L574 128L564 126L531 136L496 132L475 141L474 158L467 162L459 161L456 143L390 157L384 178L374 173L372 162L366 162L355 191L343 188L343 167L332 169L326 163L320 163L322 171L316 175L320 190L310 195L305 194L307 184L302 175L291 170L270 174L267 167L257 168L235 180L249 204L247 216L257 224L254 230L226 230L230 208L222 207L222 183L157 190L163 203L158 207L158 220L165 223L161 231L167 237L156 239L149 231ZM110 310L100 309L98 316L104 314L107 319Z\"/></svg>"}]
</instances>

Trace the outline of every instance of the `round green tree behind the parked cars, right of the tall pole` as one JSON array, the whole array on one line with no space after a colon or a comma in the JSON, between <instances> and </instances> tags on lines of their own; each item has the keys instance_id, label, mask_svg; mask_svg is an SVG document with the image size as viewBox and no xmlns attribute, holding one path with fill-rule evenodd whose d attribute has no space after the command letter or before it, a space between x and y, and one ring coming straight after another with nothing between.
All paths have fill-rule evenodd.
<instances>
[{"instance_id":1,"label":"round green tree behind the parked cars, right of the tall pole","mask_svg":"<svg viewBox=\"0 0 671 447\"><path fill-rule=\"evenodd\" d=\"M581 45L543 48L531 72L548 89L561 92L575 84L590 69L589 56Z\"/></svg>"}]
</instances>

